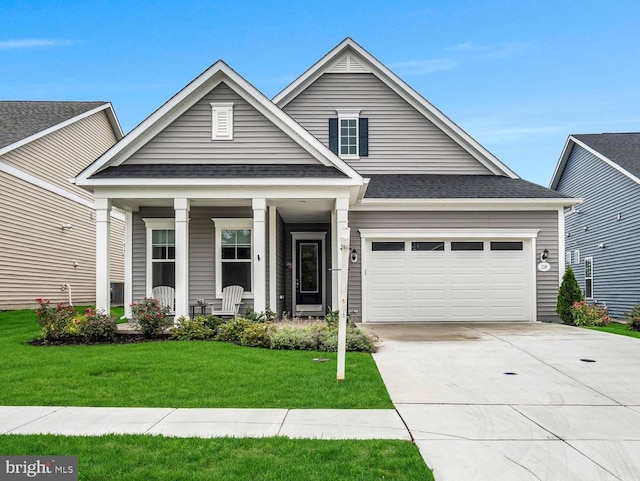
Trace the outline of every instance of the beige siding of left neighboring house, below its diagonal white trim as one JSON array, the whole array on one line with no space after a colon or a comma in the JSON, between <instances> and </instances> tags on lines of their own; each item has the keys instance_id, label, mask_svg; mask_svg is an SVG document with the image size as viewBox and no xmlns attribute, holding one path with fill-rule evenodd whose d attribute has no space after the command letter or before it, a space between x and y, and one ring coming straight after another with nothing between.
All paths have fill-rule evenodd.
<instances>
[{"instance_id":1,"label":"beige siding of left neighboring house, below its diagonal white trim","mask_svg":"<svg viewBox=\"0 0 640 481\"><path fill-rule=\"evenodd\" d=\"M63 284L71 285L74 304L94 304L93 209L2 172L0 192L0 310L33 308L37 297L67 302ZM66 223L73 227L63 230ZM118 266L111 278L122 282L124 222L111 225L112 266Z\"/></svg>"}]
</instances>

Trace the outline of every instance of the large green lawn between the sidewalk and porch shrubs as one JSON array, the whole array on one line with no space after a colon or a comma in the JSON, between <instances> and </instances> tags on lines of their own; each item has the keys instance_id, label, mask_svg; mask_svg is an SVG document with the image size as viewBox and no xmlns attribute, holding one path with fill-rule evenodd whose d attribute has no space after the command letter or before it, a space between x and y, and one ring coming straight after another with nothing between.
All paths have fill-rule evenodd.
<instances>
[{"instance_id":1,"label":"large green lawn between the sidewalk and porch shrubs","mask_svg":"<svg viewBox=\"0 0 640 481\"><path fill-rule=\"evenodd\" d=\"M34 311L0 312L0 405L393 408L370 354L206 341L35 347ZM313 362L327 357L329 362Z\"/></svg>"}]
</instances>

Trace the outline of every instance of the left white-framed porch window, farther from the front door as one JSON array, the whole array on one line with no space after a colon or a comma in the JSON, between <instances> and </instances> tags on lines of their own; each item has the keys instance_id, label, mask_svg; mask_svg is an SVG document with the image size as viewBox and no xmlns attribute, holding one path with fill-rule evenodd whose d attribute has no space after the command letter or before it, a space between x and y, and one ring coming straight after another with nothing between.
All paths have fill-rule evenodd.
<instances>
[{"instance_id":1,"label":"left white-framed porch window, farther from the front door","mask_svg":"<svg viewBox=\"0 0 640 481\"><path fill-rule=\"evenodd\" d=\"M173 219L145 218L147 229L147 292L157 286L176 287L176 231Z\"/></svg>"}]
</instances>

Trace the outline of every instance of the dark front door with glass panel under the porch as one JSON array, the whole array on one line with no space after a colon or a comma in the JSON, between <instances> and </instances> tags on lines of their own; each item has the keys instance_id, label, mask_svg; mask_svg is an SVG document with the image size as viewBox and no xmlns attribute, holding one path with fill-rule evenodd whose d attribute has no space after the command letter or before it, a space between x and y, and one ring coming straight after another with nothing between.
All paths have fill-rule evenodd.
<instances>
[{"instance_id":1,"label":"dark front door with glass panel under the porch","mask_svg":"<svg viewBox=\"0 0 640 481\"><path fill-rule=\"evenodd\" d=\"M322 310L322 241L296 240L296 310Z\"/></svg>"}]
</instances>

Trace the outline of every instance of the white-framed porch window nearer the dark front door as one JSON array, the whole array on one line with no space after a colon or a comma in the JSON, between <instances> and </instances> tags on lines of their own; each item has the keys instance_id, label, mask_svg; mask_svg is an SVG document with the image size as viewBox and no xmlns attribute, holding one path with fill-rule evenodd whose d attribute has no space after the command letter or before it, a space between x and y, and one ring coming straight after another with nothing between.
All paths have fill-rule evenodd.
<instances>
[{"instance_id":1,"label":"white-framed porch window nearer the dark front door","mask_svg":"<svg viewBox=\"0 0 640 481\"><path fill-rule=\"evenodd\" d=\"M216 294L227 286L252 291L253 219L212 219L216 229Z\"/></svg>"}]
</instances>

